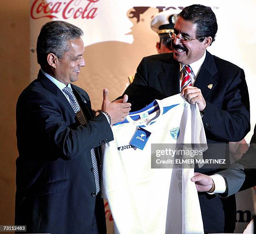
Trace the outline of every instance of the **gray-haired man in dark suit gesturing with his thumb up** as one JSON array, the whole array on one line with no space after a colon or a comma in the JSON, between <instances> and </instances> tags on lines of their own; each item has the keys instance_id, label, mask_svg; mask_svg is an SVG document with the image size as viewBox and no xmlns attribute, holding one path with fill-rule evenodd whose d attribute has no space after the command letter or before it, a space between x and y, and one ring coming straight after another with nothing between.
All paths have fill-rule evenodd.
<instances>
[{"instance_id":1,"label":"gray-haired man in dark suit gesturing with his thumb up","mask_svg":"<svg viewBox=\"0 0 256 234\"><path fill-rule=\"evenodd\" d=\"M38 78L18 98L15 224L27 233L105 234L100 198L100 147L110 124L130 111L128 97L94 116L87 93L72 82L84 67L80 28L46 23L38 36Z\"/></svg>"}]
</instances>

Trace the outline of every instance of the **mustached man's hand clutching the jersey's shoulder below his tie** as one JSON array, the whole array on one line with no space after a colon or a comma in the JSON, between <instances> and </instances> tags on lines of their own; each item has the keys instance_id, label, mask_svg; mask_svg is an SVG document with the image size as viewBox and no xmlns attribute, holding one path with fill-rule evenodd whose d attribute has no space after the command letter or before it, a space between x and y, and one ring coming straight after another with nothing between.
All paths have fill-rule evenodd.
<instances>
[{"instance_id":1,"label":"mustached man's hand clutching the jersey's shoulder below his tie","mask_svg":"<svg viewBox=\"0 0 256 234\"><path fill-rule=\"evenodd\" d=\"M204 111L206 102L205 98L202 96L200 88L194 86L186 86L182 92L181 96L184 96L189 103L198 104L199 110Z\"/></svg>"}]
</instances>

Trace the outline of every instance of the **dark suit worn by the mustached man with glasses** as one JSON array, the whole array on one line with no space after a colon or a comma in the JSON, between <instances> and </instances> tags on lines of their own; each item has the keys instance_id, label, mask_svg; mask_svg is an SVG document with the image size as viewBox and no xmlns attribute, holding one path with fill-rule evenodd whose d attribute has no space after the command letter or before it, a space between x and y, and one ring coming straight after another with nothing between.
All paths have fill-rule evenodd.
<instances>
[{"instance_id":1,"label":"dark suit worn by the mustached man with glasses","mask_svg":"<svg viewBox=\"0 0 256 234\"><path fill-rule=\"evenodd\" d=\"M142 59L133 83L124 93L128 94L132 111L136 111L154 98L179 93L179 82L179 63L174 60L172 53L151 55ZM208 88L208 85L212 85L212 88ZM201 89L206 101L202 121L208 150L204 158L223 159L227 156L227 166L229 156L226 143L240 141L250 130L249 96L243 69L206 52L194 86ZM213 143L224 144L214 147ZM216 172L216 167L205 164L202 169L195 171L212 174ZM232 232L235 229L234 196L220 199L215 195L200 193L199 199L205 231Z\"/></svg>"}]
</instances>

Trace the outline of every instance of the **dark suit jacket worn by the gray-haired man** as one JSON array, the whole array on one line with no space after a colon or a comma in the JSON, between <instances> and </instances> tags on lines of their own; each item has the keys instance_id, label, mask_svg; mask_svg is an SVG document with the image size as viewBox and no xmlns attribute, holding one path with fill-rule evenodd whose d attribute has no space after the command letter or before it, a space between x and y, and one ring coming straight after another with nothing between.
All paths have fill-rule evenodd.
<instances>
[{"instance_id":1,"label":"dark suit jacket worn by the gray-haired man","mask_svg":"<svg viewBox=\"0 0 256 234\"><path fill-rule=\"evenodd\" d=\"M27 225L28 233L90 233L94 213L99 232L106 233L90 150L95 148L100 165L98 146L113 134L102 113L93 116L87 93L74 85L72 90L87 119L83 126L41 71L18 98L15 224Z\"/></svg>"}]
</instances>

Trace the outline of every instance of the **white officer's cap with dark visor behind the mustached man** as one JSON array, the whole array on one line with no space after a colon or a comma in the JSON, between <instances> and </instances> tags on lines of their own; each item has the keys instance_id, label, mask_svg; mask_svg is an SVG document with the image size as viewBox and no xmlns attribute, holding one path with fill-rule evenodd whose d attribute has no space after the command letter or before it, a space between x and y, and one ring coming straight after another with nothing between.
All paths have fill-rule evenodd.
<instances>
[{"instance_id":1,"label":"white officer's cap with dark visor behind the mustached man","mask_svg":"<svg viewBox=\"0 0 256 234\"><path fill-rule=\"evenodd\" d=\"M180 10L169 9L154 15L150 23L151 29L160 37L169 33L174 28L179 12Z\"/></svg>"}]
</instances>

